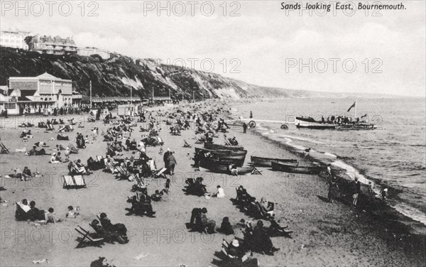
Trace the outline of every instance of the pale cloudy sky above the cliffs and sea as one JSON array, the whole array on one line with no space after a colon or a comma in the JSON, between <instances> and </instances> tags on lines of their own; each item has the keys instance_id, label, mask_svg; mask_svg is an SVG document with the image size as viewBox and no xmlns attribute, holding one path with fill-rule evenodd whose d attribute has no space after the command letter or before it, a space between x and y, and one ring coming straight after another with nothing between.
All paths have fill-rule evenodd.
<instances>
[{"instance_id":1,"label":"pale cloudy sky above the cliffs and sea","mask_svg":"<svg viewBox=\"0 0 426 267\"><path fill-rule=\"evenodd\" d=\"M0 27L72 36L78 46L254 85L425 97L425 1L376 13L356 9L359 2L349 11L324 2L330 12L311 13L285 11L281 3L2 0Z\"/></svg>"}]
</instances>

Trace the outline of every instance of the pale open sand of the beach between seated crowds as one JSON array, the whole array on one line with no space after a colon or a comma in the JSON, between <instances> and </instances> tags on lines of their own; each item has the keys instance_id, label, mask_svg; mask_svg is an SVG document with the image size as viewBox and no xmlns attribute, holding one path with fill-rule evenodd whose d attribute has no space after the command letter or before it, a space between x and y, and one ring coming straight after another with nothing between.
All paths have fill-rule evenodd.
<instances>
[{"instance_id":1,"label":"pale open sand of the beach between seated crowds","mask_svg":"<svg viewBox=\"0 0 426 267\"><path fill-rule=\"evenodd\" d=\"M89 134L92 126L99 127L99 132L106 131L110 125L97 121L96 125L87 124L87 116L75 116L77 121L85 121L84 129L70 133L70 141L48 141L58 134L55 131L33 127L35 138L24 143L19 134L23 130L12 125L3 124L1 142L11 149L11 153L1 155L1 186L6 190L0 192L1 251L2 266L32 266L32 261L48 259L49 263L40 266L89 266L99 256L105 256L116 266L223 266L219 258L214 256L221 250L222 239L231 241L234 236L222 234L199 234L186 229L185 223L190 221L194 207L207 207L207 217L214 219L217 226L223 217L229 217L234 226L236 236L243 238L241 219L251 219L236 209L230 198L236 196L235 189L243 185L254 197L266 197L277 203L275 211L282 224L293 230L293 238L272 238L275 247L280 251L274 256L253 254L261 266L424 266L424 244L413 242L407 231L398 227L382 224L381 214L374 217L364 209L354 209L344 201L334 205L327 202L327 185L317 175L294 175L274 172L268 168L259 168L262 175L243 175L231 177L213 173L200 173L191 167L194 153L195 133L193 129L182 131L182 136L172 136L168 127L162 124L160 136L163 138L163 149L175 151L178 165L172 178L170 195L165 195L160 202L153 203L157 212L155 218L126 216L127 197L134 195L131 186L134 182L116 180L111 173L95 171L86 177L87 188L66 190L62 188L62 175L67 175L67 164L53 165L48 163L50 156L23 156L15 152L16 148L31 149L33 143L45 141L55 148L56 144L67 146L75 144L75 135L82 132ZM1 118L4 120L4 118ZM18 119L18 117L12 117ZM44 118L43 118L44 119ZM143 124L138 123L138 126ZM134 127L131 138L138 141L141 134ZM277 146L272 141L261 138L253 130L242 133L242 129L231 127L227 136L236 136L241 146L249 151L250 156L266 156L273 158L295 158L300 165L309 162ZM104 156L106 142L98 136L96 141L72 154L70 160L80 158L86 163L89 157ZM183 148L183 140L192 148ZM223 136L214 138L215 143L222 144ZM49 150L47 150L49 151ZM158 167L163 166L160 147L148 147L147 155L155 159ZM50 152L50 151L49 151ZM124 156L132 156L132 152L124 152ZM13 168L23 169L28 166L33 172L38 170L43 178L21 181L5 178ZM217 185L224 188L223 199L196 197L185 195L182 191L186 178L202 176L209 192L215 192ZM165 180L152 180L148 185L148 194L156 189L163 189ZM40 224L35 222L16 222L14 218L15 202L27 199L34 200L39 209L53 207L63 222L57 224ZM76 219L65 219L67 207L80 207L80 216ZM88 246L76 249L78 234L75 227L80 225L92 231L89 222L96 219L100 212L106 212L112 223L123 223L127 227L128 244L104 244L102 247ZM391 219L387 219L389 222ZM265 221L266 226L269 225ZM395 224L398 225L398 224ZM143 254L143 255L141 255ZM35 256L36 255L36 256ZM141 256L141 259L135 259Z\"/></svg>"}]
</instances>

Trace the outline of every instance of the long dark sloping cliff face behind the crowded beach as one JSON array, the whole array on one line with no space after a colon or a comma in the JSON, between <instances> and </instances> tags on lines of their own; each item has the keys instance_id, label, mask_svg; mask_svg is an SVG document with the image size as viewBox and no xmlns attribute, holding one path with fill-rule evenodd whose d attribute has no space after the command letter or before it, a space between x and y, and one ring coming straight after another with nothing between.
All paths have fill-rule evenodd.
<instances>
[{"instance_id":1,"label":"long dark sloping cliff face behind the crowded beach","mask_svg":"<svg viewBox=\"0 0 426 267\"><path fill-rule=\"evenodd\" d=\"M116 55L109 60L79 55L40 55L35 52L0 48L0 85L6 85L8 77L37 76L43 72L62 79L72 80L77 92L89 94L89 81L92 80L94 96L151 97L152 89L156 97L201 99L222 97L285 97L280 89L258 87L246 82L232 80L214 73L191 70L185 67L158 64L154 60L133 62L131 58Z\"/></svg>"}]
</instances>

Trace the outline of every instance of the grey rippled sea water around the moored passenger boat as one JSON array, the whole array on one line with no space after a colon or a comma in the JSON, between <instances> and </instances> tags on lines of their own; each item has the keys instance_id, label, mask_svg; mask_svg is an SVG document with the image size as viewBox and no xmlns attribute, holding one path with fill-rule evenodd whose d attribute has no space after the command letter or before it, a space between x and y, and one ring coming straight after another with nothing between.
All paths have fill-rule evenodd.
<instances>
[{"instance_id":1,"label":"grey rippled sea water around the moored passenger boat","mask_svg":"<svg viewBox=\"0 0 426 267\"><path fill-rule=\"evenodd\" d=\"M266 137L282 140L296 150L311 148L310 156L344 168L349 178L373 181L379 190L388 187L388 202L399 212L426 224L426 116L424 98L359 98L357 115L376 124L373 131L296 129L295 116L327 119L347 112L354 98L273 99L235 106L236 114L268 132ZM261 120L289 121L282 124ZM273 130L273 131L270 131Z\"/></svg>"}]
</instances>

